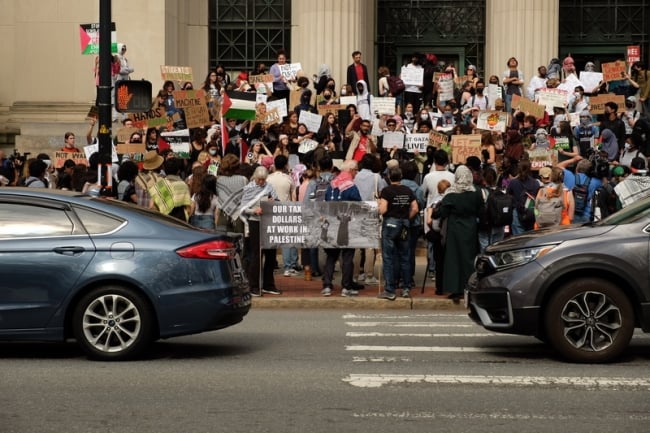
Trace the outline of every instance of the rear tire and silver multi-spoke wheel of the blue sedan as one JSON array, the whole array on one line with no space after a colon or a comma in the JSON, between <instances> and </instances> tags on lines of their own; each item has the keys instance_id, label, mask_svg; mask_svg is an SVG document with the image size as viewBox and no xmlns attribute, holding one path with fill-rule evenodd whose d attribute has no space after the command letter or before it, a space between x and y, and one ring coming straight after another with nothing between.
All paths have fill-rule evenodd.
<instances>
[{"instance_id":1,"label":"rear tire and silver multi-spoke wheel of the blue sedan","mask_svg":"<svg viewBox=\"0 0 650 433\"><path fill-rule=\"evenodd\" d=\"M77 303L73 331L90 358L122 361L140 354L153 341L154 315L137 292L104 286Z\"/></svg>"}]
</instances>

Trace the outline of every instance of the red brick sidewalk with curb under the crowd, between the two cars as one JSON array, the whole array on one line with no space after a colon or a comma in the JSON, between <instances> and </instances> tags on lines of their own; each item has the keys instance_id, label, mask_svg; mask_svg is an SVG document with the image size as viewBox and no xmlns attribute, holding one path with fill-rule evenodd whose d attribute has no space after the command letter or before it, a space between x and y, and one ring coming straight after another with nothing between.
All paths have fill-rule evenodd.
<instances>
[{"instance_id":1,"label":"red brick sidewalk with curb under the crowd, between the two cars","mask_svg":"<svg viewBox=\"0 0 650 433\"><path fill-rule=\"evenodd\" d=\"M281 261L281 256L278 256ZM447 299L446 295L435 294L435 281L431 275L427 275L424 281L427 258L423 252L419 252L415 258L415 288L411 291L410 298L399 297L394 301L378 299L377 295L383 290L383 281L380 285L366 285L364 290L359 291L359 296L341 296L341 273L334 273L334 290L332 296L324 297L320 294L323 288L321 277L312 278L312 281L305 281L304 273L301 271L296 276L285 277L280 269L275 271L275 284L282 291L281 295L262 294L260 297L253 297L253 308L314 308L314 309L413 309L413 310L453 310L466 311L463 303L454 304ZM381 271L381 264L377 265ZM338 265L337 265L338 269ZM383 275L375 275L378 279ZM422 283L424 282L424 293Z\"/></svg>"}]
</instances>

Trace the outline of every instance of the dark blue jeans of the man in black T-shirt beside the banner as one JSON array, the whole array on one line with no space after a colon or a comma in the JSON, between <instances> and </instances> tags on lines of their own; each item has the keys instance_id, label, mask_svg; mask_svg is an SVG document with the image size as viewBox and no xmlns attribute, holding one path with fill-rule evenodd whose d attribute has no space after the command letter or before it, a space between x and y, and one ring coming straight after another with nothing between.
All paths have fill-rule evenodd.
<instances>
[{"instance_id":1,"label":"dark blue jeans of the man in black T-shirt beside the banner","mask_svg":"<svg viewBox=\"0 0 650 433\"><path fill-rule=\"evenodd\" d=\"M402 228L407 235L402 239ZM408 219L384 218L381 231L381 258L384 262L385 290L395 293L396 283L402 279L402 289L412 289L413 272L409 258L410 221Z\"/></svg>"}]
</instances>

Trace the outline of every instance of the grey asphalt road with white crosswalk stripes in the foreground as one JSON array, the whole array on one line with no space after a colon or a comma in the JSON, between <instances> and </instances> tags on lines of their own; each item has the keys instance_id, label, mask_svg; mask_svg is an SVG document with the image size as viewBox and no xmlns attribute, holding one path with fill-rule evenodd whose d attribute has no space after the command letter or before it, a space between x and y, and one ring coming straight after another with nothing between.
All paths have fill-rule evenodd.
<instances>
[{"instance_id":1,"label":"grey asphalt road with white crosswalk stripes in the foreground","mask_svg":"<svg viewBox=\"0 0 650 433\"><path fill-rule=\"evenodd\" d=\"M645 432L650 338L610 365L458 312L253 310L145 360L0 343L0 433Z\"/></svg>"}]
</instances>

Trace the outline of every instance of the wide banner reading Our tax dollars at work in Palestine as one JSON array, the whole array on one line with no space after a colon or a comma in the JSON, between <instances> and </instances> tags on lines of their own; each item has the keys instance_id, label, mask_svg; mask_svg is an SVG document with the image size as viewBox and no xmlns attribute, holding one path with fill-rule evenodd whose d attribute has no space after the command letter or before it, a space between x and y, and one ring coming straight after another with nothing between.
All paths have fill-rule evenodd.
<instances>
[{"instance_id":1,"label":"wide banner reading Our tax dollars at work in Palestine","mask_svg":"<svg viewBox=\"0 0 650 433\"><path fill-rule=\"evenodd\" d=\"M372 202L261 202L260 246L378 248L379 215Z\"/></svg>"}]
</instances>

